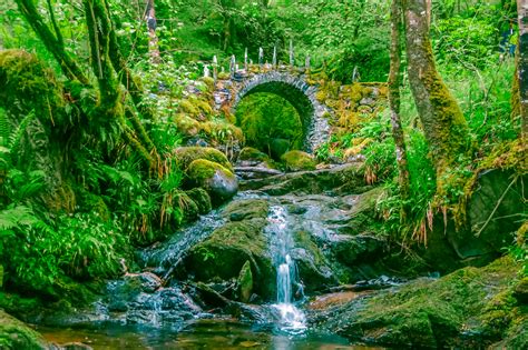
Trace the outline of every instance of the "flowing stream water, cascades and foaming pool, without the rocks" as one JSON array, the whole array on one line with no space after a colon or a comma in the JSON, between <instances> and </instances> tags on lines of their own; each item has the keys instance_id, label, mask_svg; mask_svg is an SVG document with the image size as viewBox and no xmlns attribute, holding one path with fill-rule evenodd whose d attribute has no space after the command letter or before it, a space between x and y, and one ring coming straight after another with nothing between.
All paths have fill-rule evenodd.
<instances>
[{"instance_id":1,"label":"flowing stream water, cascades and foaming pool, without the rocks","mask_svg":"<svg viewBox=\"0 0 528 350\"><path fill-rule=\"evenodd\" d=\"M193 300L185 281L175 278L168 279L165 286L157 284L159 278L167 280L166 277L177 271L193 246L225 223L221 210L215 210L180 229L168 241L138 252L145 272L131 278L140 277L141 286L151 283L151 290L130 293L127 277L110 281L106 299L97 303L91 316L84 313L88 321L72 328L40 327L38 330L53 342L82 342L95 350L366 349L350 346L335 334L314 332L304 312L305 286L295 264L303 249L295 247L294 233L305 231L322 240L333 239L334 231L331 223L323 220L322 207L314 204L321 198L273 198L260 192L243 192L234 201L248 198L265 199L271 204L264 233L276 271L276 299L273 302L241 306L243 311L254 312L257 317L235 320L204 310ZM305 211L289 212L294 203L302 203ZM325 210L330 210L330 216L335 219L341 211L332 207L327 206Z\"/></svg>"}]
</instances>

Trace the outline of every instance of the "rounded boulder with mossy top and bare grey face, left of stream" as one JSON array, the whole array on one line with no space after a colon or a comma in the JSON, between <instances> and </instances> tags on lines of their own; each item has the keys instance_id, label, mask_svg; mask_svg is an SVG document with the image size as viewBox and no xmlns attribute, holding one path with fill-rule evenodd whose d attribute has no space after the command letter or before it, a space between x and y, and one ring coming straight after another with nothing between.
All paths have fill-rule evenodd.
<instances>
[{"instance_id":1,"label":"rounded boulder with mossy top and bare grey face, left of stream","mask_svg":"<svg viewBox=\"0 0 528 350\"><path fill-rule=\"evenodd\" d=\"M233 198L238 191L233 172L213 161L197 159L188 166L186 174L188 182L205 189L216 204Z\"/></svg>"}]
</instances>

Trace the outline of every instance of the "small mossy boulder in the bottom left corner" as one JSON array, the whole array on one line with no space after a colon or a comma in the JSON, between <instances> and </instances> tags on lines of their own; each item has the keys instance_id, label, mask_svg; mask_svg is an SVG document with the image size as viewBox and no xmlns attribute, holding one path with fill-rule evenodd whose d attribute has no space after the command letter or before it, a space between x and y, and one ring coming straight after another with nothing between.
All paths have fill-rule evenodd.
<instances>
[{"instance_id":1,"label":"small mossy boulder in the bottom left corner","mask_svg":"<svg viewBox=\"0 0 528 350\"><path fill-rule=\"evenodd\" d=\"M0 349L52 349L41 334L0 310Z\"/></svg>"}]
</instances>

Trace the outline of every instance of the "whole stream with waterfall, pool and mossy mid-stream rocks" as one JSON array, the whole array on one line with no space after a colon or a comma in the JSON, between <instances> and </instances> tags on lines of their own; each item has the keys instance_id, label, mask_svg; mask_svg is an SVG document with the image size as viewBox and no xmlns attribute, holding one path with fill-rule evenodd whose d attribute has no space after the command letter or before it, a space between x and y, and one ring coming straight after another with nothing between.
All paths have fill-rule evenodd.
<instances>
[{"instance_id":1,"label":"whole stream with waterfall, pool and mossy mid-stream rocks","mask_svg":"<svg viewBox=\"0 0 528 350\"><path fill-rule=\"evenodd\" d=\"M338 273L354 274L355 270L332 261L339 249L336 253L329 247L351 242L345 232L351 230L350 214L360 197L336 196L331 190L267 192L241 191L167 241L138 251L143 272L109 281L91 309L55 320L63 327L37 330L55 343L84 343L96 350L366 349L313 328L306 313L314 292L321 294L338 284ZM258 211L260 207L263 210ZM246 234L256 236L238 242L226 229L222 240L234 240L229 244L238 250L226 246L208 251L203 247L229 224L238 229L247 226ZM261 244L260 249L245 247L253 242ZM204 277L208 269L221 276L235 262L242 264L246 258L236 260L242 254L248 257L253 272L247 302L237 301L242 288L237 271L232 278ZM202 257L201 266L196 257ZM226 259L235 262L224 267ZM267 289L261 288L265 281L271 281Z\"/></svg>"}]
</instances>

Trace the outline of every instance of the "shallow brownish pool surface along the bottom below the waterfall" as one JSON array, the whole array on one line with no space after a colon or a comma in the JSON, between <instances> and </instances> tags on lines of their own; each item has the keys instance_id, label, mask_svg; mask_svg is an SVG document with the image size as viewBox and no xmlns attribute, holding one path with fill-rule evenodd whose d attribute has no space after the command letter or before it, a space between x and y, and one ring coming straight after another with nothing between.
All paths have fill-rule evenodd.
<instances>
[{"instance_id":1,"label":"shallow brownish pool surface along the bottom below the waterfall","mask_svg":"<svg viewBox=\"0 0 528 350\"><path fill-rule=\"evenodd\" d=\"M336 336L274 334L268 329L258 329L232 320L199 320L189 323L183 331L98 324L85 328L51 329L39 327L46 339L58 344L78 342L94 350L109 349L273 349L273 350L332 350L332 349L381 349L351 346Z\"/></svg>"}]
</instances>

